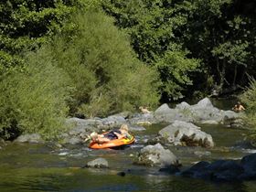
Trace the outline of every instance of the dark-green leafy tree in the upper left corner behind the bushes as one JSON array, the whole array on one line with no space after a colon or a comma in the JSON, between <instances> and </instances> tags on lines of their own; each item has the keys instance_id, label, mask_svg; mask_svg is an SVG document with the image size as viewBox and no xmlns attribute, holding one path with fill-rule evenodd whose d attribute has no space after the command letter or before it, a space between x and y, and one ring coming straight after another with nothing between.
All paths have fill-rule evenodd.
<instances>
[{"instance_id":1,"label":"dark-green leafy tree in the upper left corner behind the bushes","mask_svg":"<svg viewBox=\"0 0 256 192\"><path fill-rule=\"evenodd\" d=\"M49 37L65 28L71 13L92 0L37 1L3 0L0 2L1 69L23 64L23 54L35 50Z\"/></svg>"}]
</instances>

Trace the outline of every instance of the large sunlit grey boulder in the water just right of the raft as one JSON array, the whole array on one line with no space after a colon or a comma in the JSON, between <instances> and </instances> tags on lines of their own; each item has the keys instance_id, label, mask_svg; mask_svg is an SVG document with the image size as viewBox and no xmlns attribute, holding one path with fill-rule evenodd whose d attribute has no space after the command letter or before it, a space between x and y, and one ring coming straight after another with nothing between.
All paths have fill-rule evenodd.
<instances>
[{"instance_id":1,"label":"large sunlit grey boulder in the water just right of the raft","mask_svg":"<svg viewBox=\"0 0 256 192\"><path fill-rule=\"evenodd\" d=\"M202 132L200 127L197 127L193 123L186 123L181 121L175 121L164 129L159 131L159 135L169 144L175 145L189 145L189 146L214 146L212 137L210 134Z\"/></svg>"}]
</instances>

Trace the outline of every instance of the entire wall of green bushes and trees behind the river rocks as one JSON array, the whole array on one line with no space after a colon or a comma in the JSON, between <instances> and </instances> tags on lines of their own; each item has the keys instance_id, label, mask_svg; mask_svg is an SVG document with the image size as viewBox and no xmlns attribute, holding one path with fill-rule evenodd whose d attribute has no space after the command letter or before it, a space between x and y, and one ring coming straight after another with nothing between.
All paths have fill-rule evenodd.
<instances>
[{"instance_id":1,"label":"entire wall of green bushes and trees behind the river rocks","mask_svg":"<svg viewBox=\"0 0 256 192\"><path fill-rule=\"evenodd\" d=\"M9 137L48 138L68 114L133 111L159 93L236 91L256 74L253 0L4 0L0 21L0 134ZM243 96L249 114L254 90L252 81Z\"/></svg>"}]
</instances>

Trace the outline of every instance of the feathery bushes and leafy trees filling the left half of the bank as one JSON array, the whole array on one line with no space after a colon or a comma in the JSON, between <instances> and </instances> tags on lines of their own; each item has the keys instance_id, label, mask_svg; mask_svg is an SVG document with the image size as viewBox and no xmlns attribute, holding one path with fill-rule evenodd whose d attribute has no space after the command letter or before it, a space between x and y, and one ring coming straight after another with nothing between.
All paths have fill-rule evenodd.
<instances>
[{"instance_id":1,"label":"feathery bushes and leafy trees filling the left half of the bank","mask_svg":"<svg viewBox=\"0 0 256 192\"><path fill-rule=\"evenodd\" d=\"M155 69L136 58L127 35L98 5L2 2L2 137L26 132L49 139L65 128L68 114L103 116L157 103Z\"/></svg>"}]
</instances>

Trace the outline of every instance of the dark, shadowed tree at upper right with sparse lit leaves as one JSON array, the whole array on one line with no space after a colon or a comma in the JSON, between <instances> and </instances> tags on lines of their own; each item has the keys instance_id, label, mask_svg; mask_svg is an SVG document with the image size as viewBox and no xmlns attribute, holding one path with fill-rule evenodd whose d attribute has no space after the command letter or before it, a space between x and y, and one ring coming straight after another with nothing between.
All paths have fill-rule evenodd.
<instances>
[{"instance_id":1,"label":"dark, shadowed tree at upper right with sparse lit leaves","mask_svg":"<svg viewBox=\"0 0 256 192\"><path fill-rule=\"evenodd\" d=\"M187 20L182 41L193 57L201 59L216 89L236 90L246 73L254 73L255 16L244 14L240 1L197 0Z\"/></svg>"}]
</instances>

